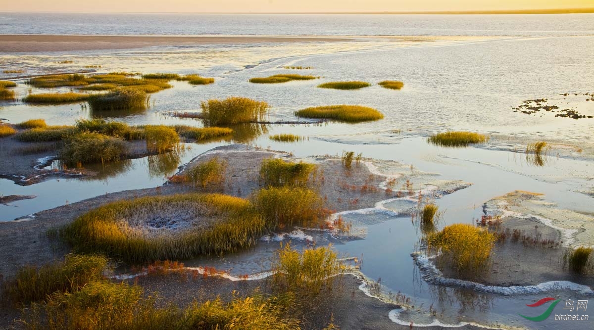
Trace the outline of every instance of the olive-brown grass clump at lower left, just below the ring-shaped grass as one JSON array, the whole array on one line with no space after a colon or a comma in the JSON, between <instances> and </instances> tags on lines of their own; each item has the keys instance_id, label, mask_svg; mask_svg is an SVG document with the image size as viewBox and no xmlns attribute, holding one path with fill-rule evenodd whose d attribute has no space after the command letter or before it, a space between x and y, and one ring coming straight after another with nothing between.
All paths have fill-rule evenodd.
<instances>
[{"instance_id":1,"label":"olive-brown grass clump at lower left, just below the ring-shaped grass","mask_svg":"<svg viewBox=\"0 0 594 330\"><path fill-rule=\"evenodd\" d=\"M103 280L108 259L100 255L69 254L62 262L18 269L8 281L8 297L17 304L50 299L54 293L73 293L94 281Z\"/></svg>"}]
</instances>

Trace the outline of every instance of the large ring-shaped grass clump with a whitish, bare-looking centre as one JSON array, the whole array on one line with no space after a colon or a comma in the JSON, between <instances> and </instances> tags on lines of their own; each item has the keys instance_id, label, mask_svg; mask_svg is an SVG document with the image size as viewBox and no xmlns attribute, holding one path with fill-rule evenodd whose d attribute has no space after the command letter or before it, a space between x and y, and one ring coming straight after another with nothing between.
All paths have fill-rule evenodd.
<instances>
[{"instance_id":1,"label":"large ring-shaped grass clump with a whitish, bare-looking centre","mask_svg":"<svg viewBox=\"0 0 594 330\"><path fill-rule=\"evenodd\" d=\"M60 236L76 251L146 262L235 252L254 245L264 226L245 199L186 193L104 205L65 226Z\"/></svg>"}]
</instances>

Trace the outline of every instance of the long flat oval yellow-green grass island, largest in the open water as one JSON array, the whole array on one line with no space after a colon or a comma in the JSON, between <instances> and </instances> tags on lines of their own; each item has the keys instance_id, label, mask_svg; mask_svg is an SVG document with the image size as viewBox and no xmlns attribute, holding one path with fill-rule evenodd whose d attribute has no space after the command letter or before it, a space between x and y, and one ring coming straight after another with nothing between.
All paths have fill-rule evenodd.
<instances>
[{"instance_id":1,"label":"long flat oval yellow-green grass island, largest in the open water","mask_svg":"<svg viewBox=\"0 0 594 330\"><path fill-rule=\"evenodd\" d=\"M378 110L364 106L336 106L308 107L295 112L295 116L304 118L318 118L338 120L342 122L367 122L384 118Z\"/></svg>"}]
</instances>

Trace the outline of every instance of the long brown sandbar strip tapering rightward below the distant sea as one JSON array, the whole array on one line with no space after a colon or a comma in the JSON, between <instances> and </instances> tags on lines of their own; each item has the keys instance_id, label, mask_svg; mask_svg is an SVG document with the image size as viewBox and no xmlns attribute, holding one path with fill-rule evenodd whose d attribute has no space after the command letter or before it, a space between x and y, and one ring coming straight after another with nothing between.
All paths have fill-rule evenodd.
<instances>
[{"instance_id":1,"label":"long brown sandbar strip tapering rightward below the distant sea","mask_svg":"<svg viewBox=\"0 0 594 330\"><path fill-rule=\"evenodd\" d=\"M134 49L150 46L241 45L249 43L345 42L344 37L316 36L101 36L0 34L0 53Z\"/></svg>"}]
</instances>

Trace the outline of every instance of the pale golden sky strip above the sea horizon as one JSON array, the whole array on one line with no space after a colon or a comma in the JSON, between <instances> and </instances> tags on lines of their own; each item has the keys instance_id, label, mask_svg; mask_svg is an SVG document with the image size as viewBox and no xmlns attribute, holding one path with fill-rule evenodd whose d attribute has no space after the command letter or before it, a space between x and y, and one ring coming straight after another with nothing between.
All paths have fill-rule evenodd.
<instances>
[{"instance_id":1,"label":"pale golden sky strip above the sea horizon","mask_svg":"<svg viewBox=\"0 0 594 330\"><path fill-rule=\"evenodd\" d=\"M366 12L589 8L593 0L0 0L0 11Z\"/></svg>"}]
</instances>

